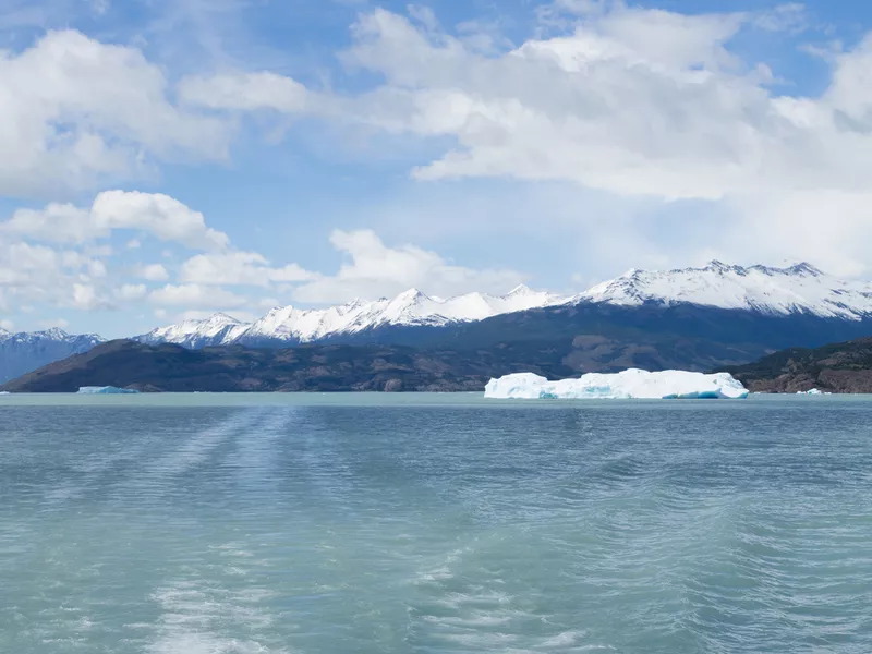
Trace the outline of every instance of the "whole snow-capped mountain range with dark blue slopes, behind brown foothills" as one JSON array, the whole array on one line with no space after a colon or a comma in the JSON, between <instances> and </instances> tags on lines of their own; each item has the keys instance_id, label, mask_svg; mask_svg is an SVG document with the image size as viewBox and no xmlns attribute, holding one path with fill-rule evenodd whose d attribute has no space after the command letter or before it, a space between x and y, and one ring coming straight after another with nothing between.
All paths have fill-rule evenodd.
<instances>
[{"instance_id":1,"label":"whole snow-capped mountain range with dark blue slopes, behind brown foothills","mask_svg":"<svg viewBox=\"0 0 872 654\"><path fill-rule=\"evenodd\" d=\"M27 339L44 341L37 335L15 335L22 343L17 359L8 359L0 349L0 379L101 340L53 332L60 343L57 351L44 343L29 358L23 347ZM518 287L502 296L469 293L441 299L412 289L392 300L358 300L320 310L277 307L253 323L215 314L132 340L191 350L389 346L455 352L464 361L470 352L491 356L508 349L508 359L493 359L495 370L524 366L564 375L633 366L712 370L746 364L784 348L870 335L871 283L839 280L809 264L778 268L712 262L701 268L630 270L573 296ZM365 352L355 350L353 358L365 358ZM443 361L440 356L436 359ZM472 374L473 367L464 371ZM474 367L475 375L485 373Z\"/></svg>"}]
</instances>

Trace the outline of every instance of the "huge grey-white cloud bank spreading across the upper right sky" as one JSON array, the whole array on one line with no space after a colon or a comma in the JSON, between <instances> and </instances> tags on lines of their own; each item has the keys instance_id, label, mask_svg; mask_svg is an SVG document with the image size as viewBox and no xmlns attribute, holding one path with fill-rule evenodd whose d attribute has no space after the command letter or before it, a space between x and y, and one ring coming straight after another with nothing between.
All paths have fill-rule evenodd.
<instances>
[{"instance_id":1,"label":"huge grey-white cloud bank spreading across the upper right sky","mask_svg":"<svg viewBox=\"0 0 872 654\"><path fill-rule=\"evenodd\" d=\"M630 197L702 201L710 204L701 205L701 220L723 219L722 209L730 209L725 238L688 242L688 258L750 232L764 261L780 258L790 209L838 197L848 210L794 215L790 254L837 274L869 270L872 34L831 56L821 94L790 96L774 90L790 87L776 85L765 64L741 59L732 45L746 32L756 38L801 32L808 19L798 3L681 14L558 0L540 12L547 24L536 37L502 51L482 51L469 34L411 13L411 20L383 9L361 14L341 60L378 82L354 93L304 89L254 72L197 78L185 98L213 110L306 113L434 147L450 144L412 170L420 180L568 182L610 194L615 206ZM240 99L243 89L251 93ZM816 230L823 215L832 228L826 247L797 237ZM738 259L743 252L725 255Z\"/></svg>"}]
</instances>

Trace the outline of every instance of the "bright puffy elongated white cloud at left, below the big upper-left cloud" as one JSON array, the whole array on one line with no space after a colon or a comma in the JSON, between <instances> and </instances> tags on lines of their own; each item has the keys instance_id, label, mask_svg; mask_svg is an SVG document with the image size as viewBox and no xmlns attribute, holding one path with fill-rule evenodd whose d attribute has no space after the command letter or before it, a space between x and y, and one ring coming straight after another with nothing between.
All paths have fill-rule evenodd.
<instances>
[{"instance_id":1,"label":"bright puffy elongated white cloud at left, below the big upper-left cloud","mask_svg":"<svg viewBox=\"0 0 872 654\"><path fill-rule=\"evenodd\" d=\"M104 191L89 209L52 203L44 209L19 209L0 233L53 243L105 239L112 230L142 230L196 250L220 250L230 240L206 226L203 214L161 193Z\"/></svg>"}]
</instances>

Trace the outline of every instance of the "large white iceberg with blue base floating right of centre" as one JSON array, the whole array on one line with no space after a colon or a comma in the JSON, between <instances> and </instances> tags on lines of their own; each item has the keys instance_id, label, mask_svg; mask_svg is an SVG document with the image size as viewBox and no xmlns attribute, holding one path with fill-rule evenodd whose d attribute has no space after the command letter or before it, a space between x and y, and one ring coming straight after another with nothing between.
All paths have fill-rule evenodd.
<instances>
[{"instance_id":1,"label":"large white iceberg with blue base floating right of centre","mask_svg":"<svg viewBox=\"0 0 872 654\"><path fill-rule=\"evenodd\" d=\"M743 399L748 389L728 373L630 368L620 373L588 373L578 379L548 382L533 373L491 379L484 397L498 399Z\"/></svg>"}]
</instances>

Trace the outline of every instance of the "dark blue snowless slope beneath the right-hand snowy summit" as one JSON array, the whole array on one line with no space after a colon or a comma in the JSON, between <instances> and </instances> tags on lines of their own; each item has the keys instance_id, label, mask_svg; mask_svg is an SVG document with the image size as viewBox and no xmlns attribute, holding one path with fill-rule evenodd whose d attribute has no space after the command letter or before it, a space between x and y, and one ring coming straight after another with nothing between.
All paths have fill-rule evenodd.
<instances>
[{"instance_id":1,"label":"dark blue snowless slope beneath the right-hand snowy summit","mask_svg":"<svg viewBox=\"0 0 872 654\"><path fill-rule=\"evenodd\" d=\"M489 349L548 343L577 372L707 371L792 346L819 347L872 335L872 318L771 315L694 304L580 303L496 316L417 335L422 347Z\"/></svg>"}]
</instances>

